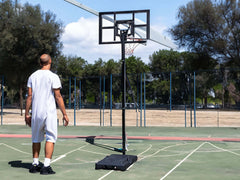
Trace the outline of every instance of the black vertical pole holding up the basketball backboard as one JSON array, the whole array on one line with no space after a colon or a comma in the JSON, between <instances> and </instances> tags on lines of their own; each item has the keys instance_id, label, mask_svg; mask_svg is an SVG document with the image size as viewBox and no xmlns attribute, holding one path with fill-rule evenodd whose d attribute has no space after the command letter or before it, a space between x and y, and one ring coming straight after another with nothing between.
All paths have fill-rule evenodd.
<instances>
[{"instance_id":1,"label":"black vertical pole holding up the basketball backboard","mask_svg":"<svg viewBox=\"0 0 240 180\"><path fill-rule=\"evenodd\" d=\"M127 31L121 30L121 45L122 45L122 153L126 152L126 130L125 130L125 105L126 105L126 65L125 65L125 41Z\"/></svg>"}]
</instances>

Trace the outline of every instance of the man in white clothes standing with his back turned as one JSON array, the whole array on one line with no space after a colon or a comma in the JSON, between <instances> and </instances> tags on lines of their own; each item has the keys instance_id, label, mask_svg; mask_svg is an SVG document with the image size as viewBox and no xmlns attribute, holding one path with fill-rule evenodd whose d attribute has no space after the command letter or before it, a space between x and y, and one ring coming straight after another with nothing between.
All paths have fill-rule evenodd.
<instances>
[{"instance_id":1,"label":"man in white clothes standing with his back turned","mask_svg":"<svg viewBox=\"0 0 240 180\"><path fill-rule=\"evenodd\" d=\"M63 98L60 93L61 82L58 75L50 71L51 57L43 54L40 57L40 65L42 68L35 71L28 79L28 97L25 109L25 121L32 127L32 153L33 163L30 173L40 171L40 174L55 174L50 166L54 144L57 140L57 110L56 103L63 114L64 125L69 123L66 114ZM29 109L32 105L32 116L29 115ZM44 166L39 166L39 153L41 142L45 144L45 160Z\"/></svg>"}]
</instances>

